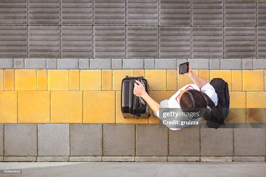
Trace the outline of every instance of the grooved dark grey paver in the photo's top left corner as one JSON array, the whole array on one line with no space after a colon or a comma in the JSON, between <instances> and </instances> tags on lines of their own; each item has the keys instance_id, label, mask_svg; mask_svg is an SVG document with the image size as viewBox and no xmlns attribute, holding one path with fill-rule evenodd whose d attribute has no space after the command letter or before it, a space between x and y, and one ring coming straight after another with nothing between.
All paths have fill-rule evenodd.
<instances>
[{"instance_id":1,"label":"grooved dark grey paver in the photo's top left corner","mask_svg":"<svg viewBox=\"0 0 266 177\"><path fill-rule=\"evenodd\" d=\"M27 25L27 0L0 1L0 25Z\"/></svg>"}]
</instances>

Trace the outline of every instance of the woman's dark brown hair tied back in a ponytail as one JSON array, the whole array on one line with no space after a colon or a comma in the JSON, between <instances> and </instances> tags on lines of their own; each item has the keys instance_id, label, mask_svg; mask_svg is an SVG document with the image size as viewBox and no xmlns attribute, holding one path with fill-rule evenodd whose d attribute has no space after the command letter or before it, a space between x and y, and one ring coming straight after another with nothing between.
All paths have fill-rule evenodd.
<instances>
[{"instance_id":1,"label":"woman's dark brown hair tied back in a ponytail","mask_svg":"<svg viewBox=\"0 0 266 177\"><path fill-rule=\"evenodd\" d=\"M188 112L192 108L206 108L201 113L204 120L209 120L210 110L207 109L208 101L205 99L201 91L189 89L185 91L180 98L180 107L183 112Z\"/></svg>"}]
</instances>

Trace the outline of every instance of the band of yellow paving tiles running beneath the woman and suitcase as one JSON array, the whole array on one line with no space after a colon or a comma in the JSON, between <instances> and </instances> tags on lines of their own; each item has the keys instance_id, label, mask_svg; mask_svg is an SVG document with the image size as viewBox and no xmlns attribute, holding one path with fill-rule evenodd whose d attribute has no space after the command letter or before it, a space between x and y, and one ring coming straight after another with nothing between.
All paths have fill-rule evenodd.
<instances>
[{"instance_id":1,"label":"band of yellow paving tiles running beneath the woman and suitcase","mask_svg":"<svg viewBox=\"0 0 266 177\"><path fill-rule=\"evenodd\" d=\"M266 70L193 71L205 80L220 77L228 82L230 108L238 109L232 109L226 123L266 123L262 115L264 109L258 109L266 107ZM150 85L150 96L158 103L192 83L188 76L183 78L177 70L1 69L0 124L159 123L152 111L148 119L123 118L120 90L126 75L145 76ZM246 108L252 109L246 111ZM258 113L248 116L254 111Z\"/></svg>"}]
</instances>

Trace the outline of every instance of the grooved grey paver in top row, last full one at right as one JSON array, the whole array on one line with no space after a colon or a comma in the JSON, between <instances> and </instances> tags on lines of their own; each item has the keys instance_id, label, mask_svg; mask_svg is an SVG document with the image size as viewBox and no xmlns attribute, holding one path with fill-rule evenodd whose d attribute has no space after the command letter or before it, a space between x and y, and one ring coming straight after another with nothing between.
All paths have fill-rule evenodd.
<instances>
[{"instance_id":1,"label":"grooved grey paver in top row, last full one at right","mask_svg":"<svg viewBox=\"0 0 266 177\"><path fill-rule=\"evenodd\" d=\"M225 26L255 26L256 1L225 0Z\"/></svg>"}]
</instances>

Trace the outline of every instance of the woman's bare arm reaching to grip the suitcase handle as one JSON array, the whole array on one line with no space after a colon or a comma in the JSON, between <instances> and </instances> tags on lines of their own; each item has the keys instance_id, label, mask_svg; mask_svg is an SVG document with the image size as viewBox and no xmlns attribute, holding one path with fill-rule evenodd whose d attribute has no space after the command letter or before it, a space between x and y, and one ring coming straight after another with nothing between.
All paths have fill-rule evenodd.
<instances>
[{"instance_id":1,"label":"woman's bare arm reaching to grip the suitcase handle","mask_svg":"<svg viewBox=\"0 0 266 177\"><path fill-rule=\"evenodd\" d=\"M140 96L142 97L147 103L148 105L151 107L151 109L154 112L157 112L160 108L162 108L160 106L160 104L158 104L156 101L154 101L145 91L145 88L143 87L142 83L140 81L136 81L137 83L135 83L134 85L134 95L136 96Z\"/></svg>"}]
</instances>

